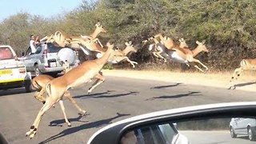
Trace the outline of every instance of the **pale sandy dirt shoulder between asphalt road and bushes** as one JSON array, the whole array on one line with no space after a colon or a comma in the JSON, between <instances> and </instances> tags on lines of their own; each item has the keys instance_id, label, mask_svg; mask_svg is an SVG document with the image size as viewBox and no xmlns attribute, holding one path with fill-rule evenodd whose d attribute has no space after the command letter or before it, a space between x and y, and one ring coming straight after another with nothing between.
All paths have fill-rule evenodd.
<instances>
[{"instance_id":1,"label":"pale sandy dirt shoulder between asphalt road and bushes","mask_svg":"<svg viewBox=\"0 0 256 144\"><path fill-rule=\"evenodd\" d=\"M179 82L190 85L214 86L229 88L232 73L179 73L171 71L150 71L150 70L102 70L105 76L138 78L147 80L157 80L162 82ZM255 74L245 72L233 85L236 90L256 91Z\"/></svg>"}]
</instances>

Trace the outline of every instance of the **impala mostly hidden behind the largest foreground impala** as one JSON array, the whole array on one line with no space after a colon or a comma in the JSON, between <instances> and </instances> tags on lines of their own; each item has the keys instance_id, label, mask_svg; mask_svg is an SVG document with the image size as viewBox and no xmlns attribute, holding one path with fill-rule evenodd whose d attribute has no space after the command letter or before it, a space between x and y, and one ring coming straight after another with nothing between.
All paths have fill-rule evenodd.
<instances>
[{"instance_id":1,"label":"impala mostly hidden behind the largest foreground impala","mask_svg":"<svg viewBox=\"0 0 256 144\"><path fill-rule=\"evenodd\" d=\"M63 62L64 67L64 73L66 74L68 71L70 71L72 69L72 67L70 67L68 62ZM50 82L51 80L53 80L54 77L51 77L50 75L47 74L41 74L38 75L37 77L34 77L32 79L32 86L34 86L36 92L34 94L34 98L38 99L38 101L42 102L43 104L46 102L46 98L44 98L42 95L46 92L46 84L48 82ZM67 90L65 92L65 94L63 95L65 98L68 98L70 100L70 102L82 113L82 114L86 114L86 110L82 110L80 108L80 106L78 106L78 104L74 101L74 99L71 97L70 92ZM63 112L64 114L64 112ZM66 120L66 117L65 121Z\"/></svg>"}]
</instances>

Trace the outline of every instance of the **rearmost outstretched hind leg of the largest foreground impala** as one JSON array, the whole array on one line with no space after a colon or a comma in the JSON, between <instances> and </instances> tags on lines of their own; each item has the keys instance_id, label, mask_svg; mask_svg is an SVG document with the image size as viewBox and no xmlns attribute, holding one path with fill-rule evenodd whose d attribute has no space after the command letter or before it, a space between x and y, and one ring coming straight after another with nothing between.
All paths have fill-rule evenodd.
<instances>
[{"instance_id":1,"label":"rearmost outstretched hind leg of the largest foreground impala","mask_svg":"<svg viewBox=\"0 0 256 144\"><path fill-rule=\"evenodd\" d=\"M30 136L34 138L34 135L37 134L39 123L42 119L42 115L46 113L47 110L50 109L51 106L54 105L54 101L50 101L50 98L46 99L46 103L42 106L41 110L38 112L38 116L35 118L34 123L30 126L30 130L26 132L26 136Z\"/></svg>"}]
</instances>

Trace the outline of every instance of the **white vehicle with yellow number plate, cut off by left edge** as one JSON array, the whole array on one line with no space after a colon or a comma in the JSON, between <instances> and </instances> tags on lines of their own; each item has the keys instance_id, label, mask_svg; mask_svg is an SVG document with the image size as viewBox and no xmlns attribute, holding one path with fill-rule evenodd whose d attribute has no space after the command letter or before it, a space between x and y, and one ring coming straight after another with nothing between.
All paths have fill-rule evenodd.
<instances>
[{"instance_id":1,"label":"white vehicle with yellow number plate, cut off by left edge","mask_svg":"<svg viewBox=\"0 0 256 144\"><path fill-rule=\"evenodd\" d=\"M11 46L0 46L0 90L18 87L31 92L31 74Z\"/></svg>"}]
</instances>

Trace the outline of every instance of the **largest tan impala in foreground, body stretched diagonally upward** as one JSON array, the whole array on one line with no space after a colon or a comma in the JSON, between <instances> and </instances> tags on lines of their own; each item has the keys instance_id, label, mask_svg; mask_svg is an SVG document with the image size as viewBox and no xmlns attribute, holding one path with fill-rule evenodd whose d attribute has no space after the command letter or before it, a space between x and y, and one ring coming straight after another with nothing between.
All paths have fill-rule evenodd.
<instances>
[{"instance_id":1,"label":"largest tan impala in foreground, body stretched diagonally upward","mask_svg":"<svg viewBox=\"0 0 256 144\"><path fill-rule=\"evenodd\" d=\"M26 136L34 138L34 135L38 131L38 126L42 119L42 115L45 114L46 111L54 105L54 103L61 101L60 104L62 109L64 109L62 98L66 90L70 90L81 86L84 83L90 82L92 78L98 75L99 71L102 70L102 67L110 58L110 54L112 54L114 51L114 45L111 45L110 42L107 42L106 46L108 49L102 58L82 62L81 65L74 67L74 69L70 70L61 77L54 78L46 85L46 103L42 106L42 109L39 110L38 116L35 118L33 125L30 126L30 130L26 132ZM70 125L70 122L67 123Z\"/></svg>"}]
</instances>

